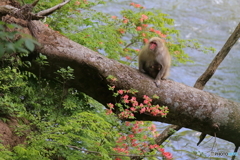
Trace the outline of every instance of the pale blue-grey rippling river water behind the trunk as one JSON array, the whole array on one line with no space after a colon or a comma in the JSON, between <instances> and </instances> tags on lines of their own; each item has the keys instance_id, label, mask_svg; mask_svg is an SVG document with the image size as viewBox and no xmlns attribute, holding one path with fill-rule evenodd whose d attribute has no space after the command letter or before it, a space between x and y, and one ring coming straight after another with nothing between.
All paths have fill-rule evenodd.
<instances>
[{"instance_id":1,"label":"pale blue-grey rippling river water behind the trunk","mask_svg":"<svg viewBox=\"0 0 240 160\"><path fill-rule=\"evenodd\" d=\"M171 68L170 79L193 86L197 78L206 70L214 56L222 48L237 24L240 22L240 0L138 0L146 9L158 9L175 19L175 27L180 30L183 39L197 39L201 44L216 49L216 53L204 54L193 49L186 49L195 63L179 64ZM118 0L98 10L119 15L119 11L128 7L130 1ZM207 83L204 90L221 97L240 102L240 41L231 49L218 70ZM160 130L165 124L158 124ZM206 137L200 146L196 146L199 132L181 129L164 143L165 149L173 154L174 159L230 159L225 156L233 152L230 142ZM216 141L216 143L214 143ZM213 147L214 145L214 147ZM240 159L240 151L236 159Z\"/></svg>"}]
</instances>

